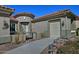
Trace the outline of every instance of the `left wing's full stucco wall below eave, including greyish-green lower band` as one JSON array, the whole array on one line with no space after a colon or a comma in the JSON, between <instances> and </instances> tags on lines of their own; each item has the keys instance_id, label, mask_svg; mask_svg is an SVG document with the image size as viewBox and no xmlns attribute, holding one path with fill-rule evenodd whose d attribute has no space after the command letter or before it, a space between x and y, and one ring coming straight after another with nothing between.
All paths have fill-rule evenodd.
<instances>
[{"instance_id":1,"label":"left wing's full stucco wall below eave, including greyish-green lower band","mask_svg":"<svg viewBox=\"0 0 79 59\"><path fill-rule=\"evenodd\" d=\"M4 20L8 23L8 28L3 29L4 27ZM10 18L9 17L0 17L0 44L11 42L10 39Z\"/></svg>"}]
</instances>

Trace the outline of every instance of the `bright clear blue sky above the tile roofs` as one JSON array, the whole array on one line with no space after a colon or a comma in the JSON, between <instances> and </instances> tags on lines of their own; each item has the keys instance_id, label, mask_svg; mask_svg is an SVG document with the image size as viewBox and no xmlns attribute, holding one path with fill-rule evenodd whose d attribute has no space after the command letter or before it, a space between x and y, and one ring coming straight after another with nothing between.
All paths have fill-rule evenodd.
<instances>
[{"instance_id":1,"label":"bright clear blue sky above the tile roofs","mask_svg":"<svg viewBox=\"0 0 79 59\"><path fill-rule=\"evenodd\" d=\"M15 9L14 14L19 12L30 12L37 17L64 9L70 9L74 14L79 15L79 5L6 5L6 6L14 8Z\"/></svg>"}]
</instances>

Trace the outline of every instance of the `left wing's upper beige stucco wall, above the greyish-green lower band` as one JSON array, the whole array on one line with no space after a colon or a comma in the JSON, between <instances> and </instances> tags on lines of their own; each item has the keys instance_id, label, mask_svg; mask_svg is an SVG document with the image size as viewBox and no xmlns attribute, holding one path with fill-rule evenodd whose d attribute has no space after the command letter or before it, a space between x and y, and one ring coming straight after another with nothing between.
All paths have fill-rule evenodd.
<instances>
[{"instance_id":1,"label":"left wing's upper beige stucco wall, above the greyish-green lower band","mask_svg":"<svg viewBox=\"0 0 79 59\"><path fill-rule=\"evenodd\" d=\"M9 28L3 29L4 20L8 23ZM8 17L0 17L0 36L10 35L10 18Z\"/></svg>"}]
</instances>

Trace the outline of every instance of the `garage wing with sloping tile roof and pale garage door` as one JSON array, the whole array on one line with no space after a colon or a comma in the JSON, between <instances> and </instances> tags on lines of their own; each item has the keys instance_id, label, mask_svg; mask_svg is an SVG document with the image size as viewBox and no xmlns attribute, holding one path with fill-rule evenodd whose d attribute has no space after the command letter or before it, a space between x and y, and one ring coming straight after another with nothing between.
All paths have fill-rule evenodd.
<instances>
[{"instance_id":1,"label":"garage wing with sloping tile roof and pale garage door","mask_svg":"<svg viewBox=\"0 0 79 59\"><path fill-rule=\"evenodd\" d=\"M38 39L46 37L70 38L72 36L71 31L74 30L72 23L75 17L70 10L41 16L32 21L32 31L37 33Z\"/></svg>"}]
</instances>

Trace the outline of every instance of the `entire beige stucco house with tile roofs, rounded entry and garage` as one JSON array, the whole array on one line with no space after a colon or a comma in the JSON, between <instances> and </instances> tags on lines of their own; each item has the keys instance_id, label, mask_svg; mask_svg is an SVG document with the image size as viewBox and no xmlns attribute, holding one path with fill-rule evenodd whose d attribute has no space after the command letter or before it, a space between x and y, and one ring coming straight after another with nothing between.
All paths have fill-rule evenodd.
<instances>
[{"instance_id":1,"label":"entire beige stucco house with tile roofs, rounded entry and garage","mask_svg":"<svg viewBox=\"0 0 79 59\"><path fill-rule=\"evenodd\" d=\"M21 12L12 15L14 9L0 6L0 44L18 43L26 39L70 38L78 34L79 17L70 10L35 17L32 13Z\"/></svg>"}]
</instances>

